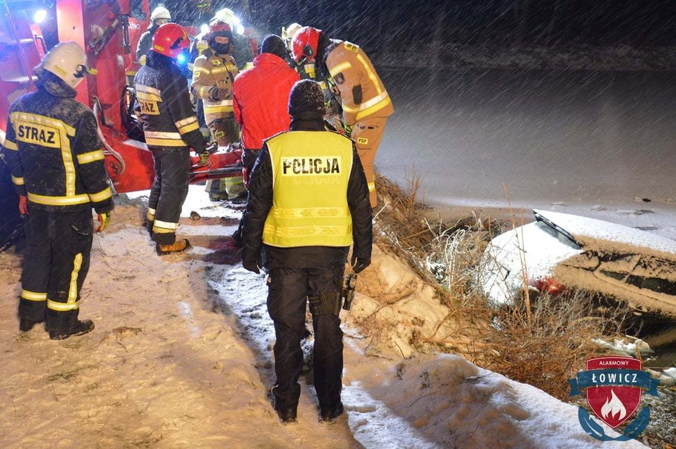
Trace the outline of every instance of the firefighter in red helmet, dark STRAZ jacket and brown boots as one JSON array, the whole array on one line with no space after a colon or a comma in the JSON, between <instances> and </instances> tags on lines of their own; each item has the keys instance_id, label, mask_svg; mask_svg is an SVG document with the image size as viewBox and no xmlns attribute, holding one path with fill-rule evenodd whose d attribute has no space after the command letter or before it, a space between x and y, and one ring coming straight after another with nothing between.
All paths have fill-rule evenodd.
<instances>
[{"instance_id":1,"label":"firefighter in red helmet, dark STRAZ jacket and brown boots","mask_svg":"<svg viewBox=\"0 0 676 449\"><path fill-rule=\"evenodd\" d=\"M155 160L155 180L148 199L148 230L158 254L185 251L186 238L176 238L180 211L188 193L189 148L205 161L207 142L200 133L176 58L190 41L176 23L165 23L153 36L146 65L134 79L134 110L143 124L146 144Z\"/></svg>"}]
</instances>

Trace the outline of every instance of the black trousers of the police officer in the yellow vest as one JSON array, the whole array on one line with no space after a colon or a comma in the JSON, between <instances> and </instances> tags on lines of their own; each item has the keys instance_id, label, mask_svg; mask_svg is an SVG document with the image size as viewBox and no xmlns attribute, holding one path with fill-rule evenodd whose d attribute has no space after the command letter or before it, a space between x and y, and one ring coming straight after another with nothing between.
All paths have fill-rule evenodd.
<instances>
[{"instance_id":1,"label":"black trousers of the police officer in the yellow vest","mask_svg":"<svg viewBox=\"0 0 676 449\"><path fill-rule=\"evenodd\" d=\"M267 311L274 322L274 372L272 389L276 408L295 408L301 394L298 383L303 367L301 339L306 332L308 296L333 296L341 291L345 266L270 270ZM343 372L343 332L334 314L313 314L314 388L321 408L340 401Z\"/></svg>"}]
</instances>

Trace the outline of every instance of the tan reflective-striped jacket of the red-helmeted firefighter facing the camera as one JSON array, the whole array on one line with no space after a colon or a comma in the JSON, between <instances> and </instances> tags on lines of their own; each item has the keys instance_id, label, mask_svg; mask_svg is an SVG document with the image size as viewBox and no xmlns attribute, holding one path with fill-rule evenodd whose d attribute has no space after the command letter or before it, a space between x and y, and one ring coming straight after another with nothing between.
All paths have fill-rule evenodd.
<instances>
[{"instance_id":1,"label":"tan reflective-striped jacket of the red-helmeted firefighter facing the camera","mask_svg":"<svg viewBox=\"0 0 676 449\"><path fill-rule=\"evenodd\" d=\"M193 95L204 102L207 124L212 120L234 117L232 83L237 73L237 66L230 55L216 55L209 49L195 59L191 89ZM222 89L222 94L215 100L209 95L213 87Z\"/></svg>"}]
</instances>

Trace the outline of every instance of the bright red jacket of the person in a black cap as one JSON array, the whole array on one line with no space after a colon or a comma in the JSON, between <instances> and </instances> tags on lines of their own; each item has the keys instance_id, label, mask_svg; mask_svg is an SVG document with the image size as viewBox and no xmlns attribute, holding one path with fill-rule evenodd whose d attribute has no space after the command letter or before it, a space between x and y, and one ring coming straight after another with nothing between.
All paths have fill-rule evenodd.
<instances>
[{"instance_id":1,"label":"bright red jacket of the person in a black cap","mask_svg":"<svg viewBox=\"0 0 676 449\"><path fill-rule=\"evenodd\" d=\"M288 131L289 94L299 79L296 70L272 53L256 55L254 68L236 77L233 106L235 120L242 126L245 149L260 149L267 137Z\"/></svg>"}]
</instances>

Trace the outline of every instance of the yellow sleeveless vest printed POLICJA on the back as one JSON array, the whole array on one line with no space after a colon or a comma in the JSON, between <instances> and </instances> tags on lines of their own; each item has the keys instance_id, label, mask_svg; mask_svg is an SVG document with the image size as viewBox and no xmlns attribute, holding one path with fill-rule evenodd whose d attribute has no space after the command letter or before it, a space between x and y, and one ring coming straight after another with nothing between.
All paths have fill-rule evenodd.
<instances>
[{"instance_id":1,"label":"yellow sleeveless vest printed POLICJA on the back","mask_svg":"<svg viewBox=\"0 0 676 449\"><path fill-rule=\"evenodd\" d=\"M352 145L330 131L290 131L267 140L272 208L263 242L285 248L352 245L347 195Z\"/></svg>"}]
</instances>

